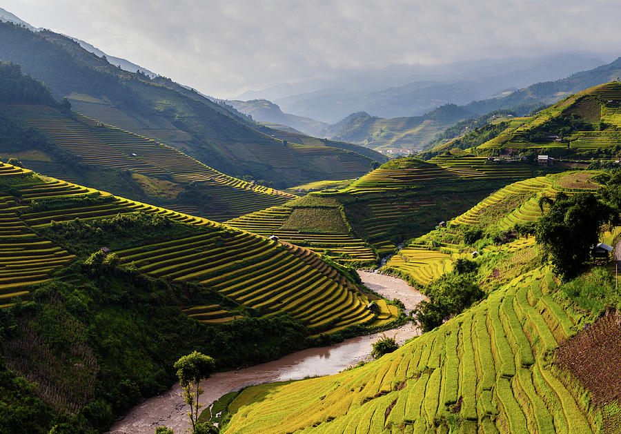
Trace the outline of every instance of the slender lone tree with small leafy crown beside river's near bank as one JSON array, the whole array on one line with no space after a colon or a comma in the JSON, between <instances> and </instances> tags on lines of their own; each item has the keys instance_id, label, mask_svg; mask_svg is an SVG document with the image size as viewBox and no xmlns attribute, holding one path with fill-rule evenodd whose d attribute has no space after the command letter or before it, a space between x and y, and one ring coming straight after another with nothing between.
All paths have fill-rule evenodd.
<instances>
[{"instance_id":1,"label":"slender lone tree with small leafy crown beside river's near bank","mask_svg":"<svg viewBox=\"0 0 621 434\"><path fill-rule=\"evenodd\" d=\"M177 369L177 377L179 384L184 389L184 401L190 406L190 424L192 424L192 432L197 433L199 409L199 396L203 394L201 389L201 380L206 379L213 372L215 366L214 359L208 355L194 351L191 354L184 355L175 362ZM202 427L199 427L199 430Z\"/></svg>"}]
</instances>

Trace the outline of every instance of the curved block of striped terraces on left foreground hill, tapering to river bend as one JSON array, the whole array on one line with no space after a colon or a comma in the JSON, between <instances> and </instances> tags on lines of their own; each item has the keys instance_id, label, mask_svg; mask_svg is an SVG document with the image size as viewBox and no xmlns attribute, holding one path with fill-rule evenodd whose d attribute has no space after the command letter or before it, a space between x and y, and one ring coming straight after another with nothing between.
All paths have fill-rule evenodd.
<instances>
[{"instance_id":1,"label":"curved block of striped terraces on left foreground hill, tapering to river bend","mask_svg":"<svg viewBox=\"0 0 621 434\"><path fill-rule=\"evenodd\" d=\"M365 295L258 235L216 230L117 254L148 275L204 284L264 313L287 312L317 333L375 321Z\"/></svg>"}]
</instances>

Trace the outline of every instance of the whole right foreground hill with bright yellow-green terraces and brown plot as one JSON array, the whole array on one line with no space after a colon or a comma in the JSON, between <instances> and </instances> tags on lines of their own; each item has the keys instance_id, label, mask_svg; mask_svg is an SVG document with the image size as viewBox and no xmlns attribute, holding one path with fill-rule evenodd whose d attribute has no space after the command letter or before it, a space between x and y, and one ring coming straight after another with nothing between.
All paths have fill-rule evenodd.
<instances>
[{"instance_id":1,"label":"whole right foreground hill with bright yellow-green terraces and brown plot","mask_svg":"<svg viewBox=\"0 0 621 434\"><path fill-rule=\"evenodd\" d=\"M441 264L449 244L460 237L464 243L469 234L466 251L480 254L472 261L473 279L486 297L364 366L244 389L220 419L224 432L617 432L621 395L609 375L618 370L614 354L621 329L614 312L621 297L610 268L595 266L562 282L541 266L532 236L513 233L491 241L500 234L495 230L506 228L504 221L513 228L538 219L541 210L528 213L526 206L538 195L596 189L596 175L566 172L511 184L448 228L417 239L428 255L411 257L406 265ZM482 230L480 239L473 228ZM613 244L612 233L602 237ZM425 239L433 246L423 246ZM436 246L440 242L444 246ZM443 273L463 272L444 268L430 281ZM607 309L611 313L602 317Z\"/></svg>"}]
</instances>

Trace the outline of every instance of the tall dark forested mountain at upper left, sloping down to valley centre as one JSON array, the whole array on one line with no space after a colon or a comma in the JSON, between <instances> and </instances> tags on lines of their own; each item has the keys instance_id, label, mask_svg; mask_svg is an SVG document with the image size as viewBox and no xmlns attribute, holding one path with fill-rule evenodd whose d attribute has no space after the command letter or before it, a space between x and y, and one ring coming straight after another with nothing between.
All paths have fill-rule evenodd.
<instances>
[{"instance_id":1,"label":"tall dark forested mountain at upper left, sloping down to valley centre","mask_svg":"<svg viewBox=\"0 0 621 434\"><path fill-rule=\"evenodd\" d=\"M166 77L112 65L68 37L0 23L0 58L19 63L77 112L175 146L236 177L277 187L364 175L373 160L355 150L283 144L264 127ZM259 131L261 129L261 131ZM356 148L348 146L348 148ZM362 148L361 148L362 150ZM365 151L366 152L366 151Z\"/></svg>"}]
</instances>

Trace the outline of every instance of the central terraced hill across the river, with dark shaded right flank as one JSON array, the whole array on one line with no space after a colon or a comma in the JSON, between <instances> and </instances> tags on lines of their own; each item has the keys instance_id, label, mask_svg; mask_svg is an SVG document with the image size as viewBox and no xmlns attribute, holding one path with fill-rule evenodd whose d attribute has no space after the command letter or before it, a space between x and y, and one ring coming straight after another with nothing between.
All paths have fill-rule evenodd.
<instances>
[{"instance_id":1,"label":"central terraced hill across the river, with dark shaded right flank","mask_svg":"<svg viewBox=\"0 0 621 434\"><path fill-rule=\"evenodd\" d=\"M362 266L392 252L404 239L422 235L450 215L462 213L507 182L533 173L530 164L501 165L485 157L471 157L464 165L456 165L456 161L391 160L339 190L313 192L280 208L227 223L262 235L277 235L328 253L338 262ZM292 214L296 208L303 208L306 215L313 210L313 219L324 225L321 230L317 225L310 230L304 219ZM336 230L342 227L336 224L341 219L347 233ZM370 255L371 248L374 255Z\"/></svg>"}]
</instances>

